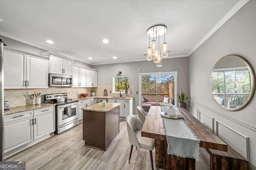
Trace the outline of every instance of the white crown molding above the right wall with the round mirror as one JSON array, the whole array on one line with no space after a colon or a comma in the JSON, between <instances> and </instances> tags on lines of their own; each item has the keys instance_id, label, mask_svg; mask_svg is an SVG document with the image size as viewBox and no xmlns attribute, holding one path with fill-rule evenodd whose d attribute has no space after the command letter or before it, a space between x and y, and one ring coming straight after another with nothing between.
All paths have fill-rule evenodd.
<instances>
[{"instance_id":1,"label":"white crown molding above the right wall with the round mirror","mask_svg":"<svg viewBox=\"0 0 256 170\"><path fill-rule=\"evenodd\" d=\"M226 21L228 21L240 8L242 8L249 0L240 0L218 23L188 52L190 56L200 45L202 45L212 34L214 34Z\"/></svg>"}]
</instances>

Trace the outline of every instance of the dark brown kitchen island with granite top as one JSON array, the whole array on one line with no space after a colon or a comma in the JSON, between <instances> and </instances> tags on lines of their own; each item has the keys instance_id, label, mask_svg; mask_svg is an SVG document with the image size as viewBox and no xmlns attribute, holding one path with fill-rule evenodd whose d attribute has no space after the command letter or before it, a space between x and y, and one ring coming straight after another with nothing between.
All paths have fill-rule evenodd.
<instances>
[{"instance_id":1,"label":"dark brown kitchen island with granite top","mask_svg":"<svg viewBox=\"0 0 256 170\"><path fill-rule=\"evenodd\" d=\"M119 103L94 104L83 110L84 146L107 150L119 134Z\"/></svg>"}]
</instances>

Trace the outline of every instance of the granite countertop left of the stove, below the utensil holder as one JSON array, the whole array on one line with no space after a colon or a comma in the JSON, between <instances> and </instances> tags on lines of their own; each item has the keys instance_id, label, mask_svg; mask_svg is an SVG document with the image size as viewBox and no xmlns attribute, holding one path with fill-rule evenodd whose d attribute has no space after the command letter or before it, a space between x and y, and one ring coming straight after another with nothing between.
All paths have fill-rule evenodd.
<instances>
[{"instance_id":1,"label":"granite countertop left of the stove, below the utensil holder","mask_svg":"<svg viewBox=\"0 0 256 170\"><path fill-rule=\"evenodd\" d=\"M35 110L35 109L41 109L44 107L51 107L51 106L55 106L55 105L56 104L41 103L39 105L32 104L32 105L27 105L27 106L11 107L10 109L4 111L4 115L11 115L14 113L30 111L30 110Z\"/></svg>"}]
</instances>

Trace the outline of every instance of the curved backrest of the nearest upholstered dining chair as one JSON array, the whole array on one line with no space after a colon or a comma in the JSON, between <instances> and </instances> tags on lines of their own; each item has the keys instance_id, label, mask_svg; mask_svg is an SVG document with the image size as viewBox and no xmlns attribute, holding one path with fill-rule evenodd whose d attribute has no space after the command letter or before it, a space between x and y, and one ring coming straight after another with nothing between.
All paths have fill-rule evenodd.
<instances>
[{"instance_id":1,"label":"curved backrest of the nearest upholstered dining chair","mask_svg":"<svg viewBox=\"0 0 256 170\"><path fill-rule=\"evenodd\" d=\"M139 119L135 115L128 115L126 117L126 125L130 144L140 148L140 143L138 142L136 134L134 133L135 131L142 129L142 124L140 123Z\"/></svg>"}]
</instances>

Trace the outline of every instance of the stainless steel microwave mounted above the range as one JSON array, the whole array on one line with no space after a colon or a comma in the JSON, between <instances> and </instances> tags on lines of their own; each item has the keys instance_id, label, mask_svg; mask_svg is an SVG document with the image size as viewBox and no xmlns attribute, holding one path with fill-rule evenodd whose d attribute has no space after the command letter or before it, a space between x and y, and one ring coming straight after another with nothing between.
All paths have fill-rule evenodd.
<instances>
[{"instance_id":1,"label":"stainless steel microwave mounted above the range","mask_svg":"<svg viewBox=\"0 0 256 170\"><path fill-rule=\"evenodd\" d=\"M49 86L72 86L72 76L62 74L49 74Z\"/></svg>"}]
</instances>

